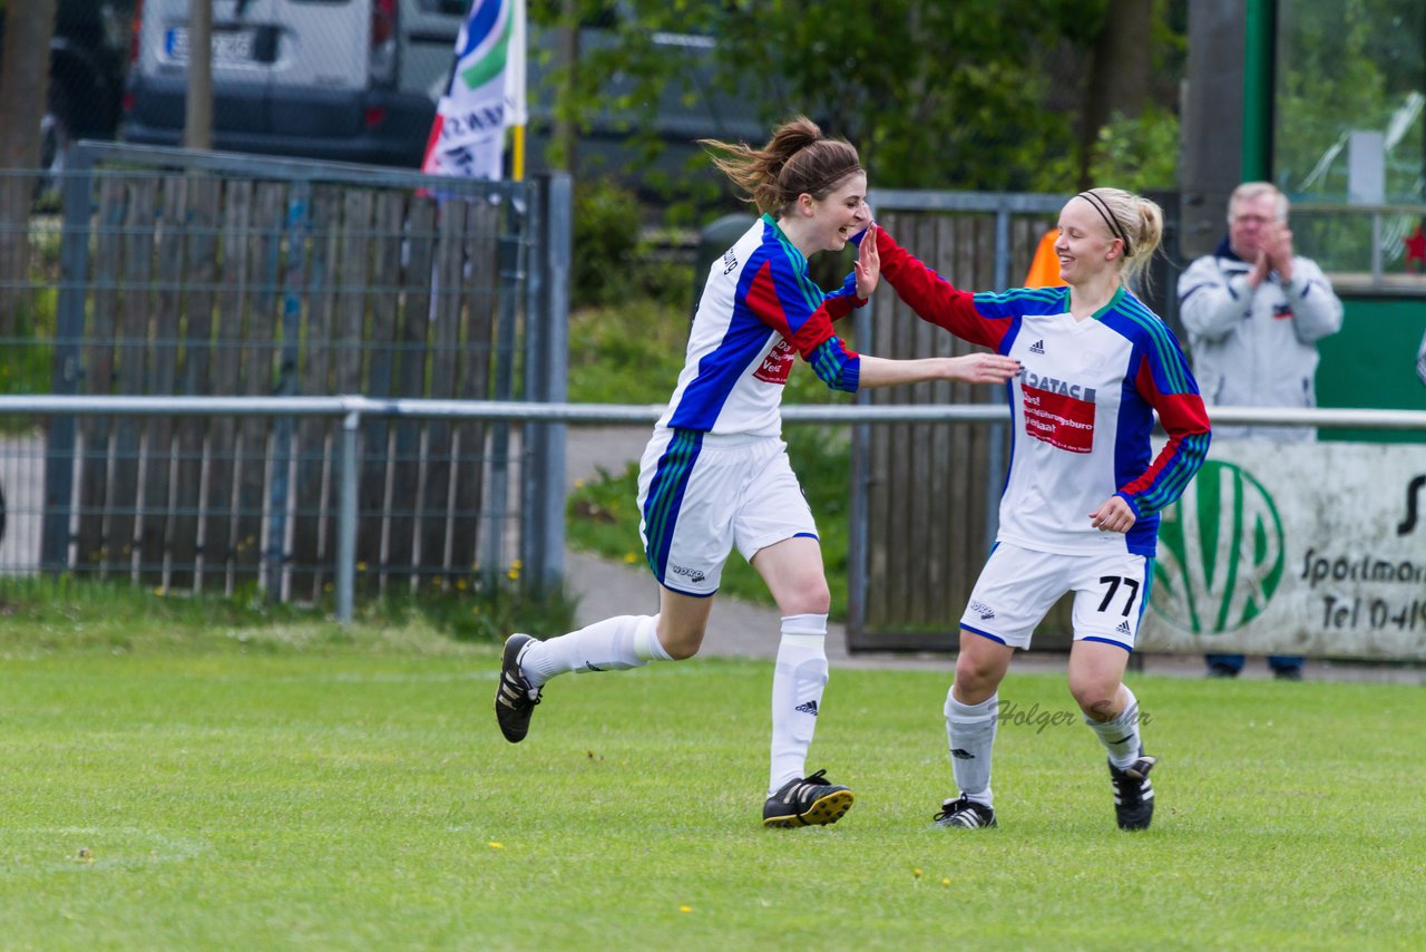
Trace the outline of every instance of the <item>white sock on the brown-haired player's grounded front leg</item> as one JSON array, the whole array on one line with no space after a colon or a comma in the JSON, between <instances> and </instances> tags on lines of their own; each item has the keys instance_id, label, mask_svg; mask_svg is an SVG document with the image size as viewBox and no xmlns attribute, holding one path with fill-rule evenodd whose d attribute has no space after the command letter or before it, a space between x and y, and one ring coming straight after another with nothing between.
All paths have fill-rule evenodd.
<instances>
[{"instance_id":1,"label":"white sock on the brown-haired player's grounded front leg","mask_svg":"<svg viewBox=\"0 0 1426 952\"><path fill-rule=\"evenodd\" d=\"M767 795L806 776L807 748L827 687L827 617L789 615L773 669L773 746Z\"/></svg>"}]
</instances>

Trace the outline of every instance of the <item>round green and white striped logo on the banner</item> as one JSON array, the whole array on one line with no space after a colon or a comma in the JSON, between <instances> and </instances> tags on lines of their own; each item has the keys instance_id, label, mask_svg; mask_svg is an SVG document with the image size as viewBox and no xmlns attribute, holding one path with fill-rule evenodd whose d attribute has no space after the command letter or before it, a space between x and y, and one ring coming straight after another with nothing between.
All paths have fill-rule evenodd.
<instances>
[{"instance_id":1,"label":"round green and white striped logo on the banner","mask_svg":"<svg viewBox=\"0 0 1426 952\"><path fill-rule=\"evenodd\" d=\"M1159 518L1154 614L1181 631L1216 635L1266 609L1282 581L1282 520L1251 472L1209 460Z\"/></svg>"}]
</instances>

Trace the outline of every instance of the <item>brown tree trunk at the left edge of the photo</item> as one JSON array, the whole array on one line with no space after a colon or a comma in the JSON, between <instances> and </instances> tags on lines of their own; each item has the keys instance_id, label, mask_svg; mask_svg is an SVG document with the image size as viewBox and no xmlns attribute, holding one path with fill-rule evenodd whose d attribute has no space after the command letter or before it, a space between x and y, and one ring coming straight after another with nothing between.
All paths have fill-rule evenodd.
<instances>
[{"instance_id":1,"label":"brown tree trunk at the left edge of the photo","mask_svg":"<svg viewBox=\"0 0 1426 952\"><path fill-rule=\"evenodd\" d=\"M0 63L0 335L16 331L30 248L33 174L40 164L40 118L50 84L56 0L24 0L4 10Z\"/></svg>"}]
</instances>

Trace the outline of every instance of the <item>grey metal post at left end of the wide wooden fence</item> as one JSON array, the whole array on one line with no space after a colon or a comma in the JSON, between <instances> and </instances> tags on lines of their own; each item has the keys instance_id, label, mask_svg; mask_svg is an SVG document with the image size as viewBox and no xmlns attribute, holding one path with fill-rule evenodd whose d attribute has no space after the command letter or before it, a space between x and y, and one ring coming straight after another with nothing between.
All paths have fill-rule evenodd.
<instances>
[{"instance_id":1,"label":"grey metal post at left end of the wide wooden fence","mask_svg":"<svg viewBox=\"0 0 1426 952\"><path fill-rule=\"evenodd\" d=\"M53 394L77 394L80 341L84 338L84 295L93 218L94 154L83 144L68 153L64 171L64 238L60 244L60 300L54 331ZM70 500L74 495L74 414L50 420L44 458L44 524L40 569L63 572L70 562Z\"/></svg>"}]
</instances>

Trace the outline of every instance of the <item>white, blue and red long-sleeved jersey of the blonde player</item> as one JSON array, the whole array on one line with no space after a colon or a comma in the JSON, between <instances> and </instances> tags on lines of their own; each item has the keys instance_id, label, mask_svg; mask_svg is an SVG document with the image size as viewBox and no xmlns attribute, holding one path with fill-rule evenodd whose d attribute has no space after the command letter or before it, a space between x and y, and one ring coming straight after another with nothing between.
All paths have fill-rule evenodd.
<instances>
[{"instance_id":1,"label":"white, blue and red long-sleeved jersey of the blonde player","mask_svg":"<svg viewBox=\"0 0 1426 952\"><path fill-rule=\"evenodd\" d=\"M1068 287L970 294L886 231L877 250L883 275L917 314L1024 364L1010 383L1014 442L997 538L1042 552L1152 557L1158 512L1182 494L1209 441L1198 384L1164 321L1124 288L1077 321ZM1169 435L1158 457L1155 411ZM1089 520L1111 495L1134 508L1128 532Z\"/></svg>"}]
</instances>

